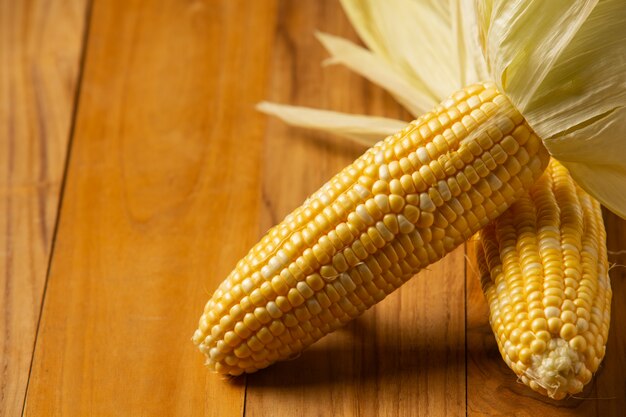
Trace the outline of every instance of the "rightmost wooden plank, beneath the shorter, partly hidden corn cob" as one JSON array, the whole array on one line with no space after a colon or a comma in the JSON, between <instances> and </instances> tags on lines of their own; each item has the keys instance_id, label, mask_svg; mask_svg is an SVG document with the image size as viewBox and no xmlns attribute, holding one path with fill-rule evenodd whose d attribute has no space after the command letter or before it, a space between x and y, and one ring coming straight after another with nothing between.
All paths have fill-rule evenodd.
<instances>
[{"instance_id":1,"label":"rightmost wooden plank, beneath the shorter, partly hidden corn cob","mask_svg":"<svg viewBox=\"0 0 626 417\"><path fill-rule=\"evenodd\" d=\"M626 222L606 213L609 250L619 251L626 245ZM468 258L475 259L473 245ZM609 260L626 264L624 255ZM626 269L611 270L613 287L612 328L607 354L594 380L583 393L554 401L535 393L517 378L500 356L489 326L488 306L476 276L476 266L468 263L467 277L467 406L468 416L623 416L626 410L626 337L620 321L626 319L626 308L620 300L626 297Z\"/></svg>"}]
</instances>

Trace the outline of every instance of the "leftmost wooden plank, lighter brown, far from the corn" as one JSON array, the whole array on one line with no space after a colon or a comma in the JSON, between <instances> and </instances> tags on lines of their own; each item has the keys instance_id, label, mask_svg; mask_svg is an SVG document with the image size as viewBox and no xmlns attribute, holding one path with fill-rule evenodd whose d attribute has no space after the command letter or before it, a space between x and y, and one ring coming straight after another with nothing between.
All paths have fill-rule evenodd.
<instances>
[{"instance_id":1,"label":"leftmost wooden plank, lighter brown, far from the corn","mask_svg":"<svg viewBox=\"0 0 626 417\"><path fill-rule=\"evenodd\" d=\"M0 2L0 416L20 415L24 404L86 6Z\"/></svg>"}]
</instances>

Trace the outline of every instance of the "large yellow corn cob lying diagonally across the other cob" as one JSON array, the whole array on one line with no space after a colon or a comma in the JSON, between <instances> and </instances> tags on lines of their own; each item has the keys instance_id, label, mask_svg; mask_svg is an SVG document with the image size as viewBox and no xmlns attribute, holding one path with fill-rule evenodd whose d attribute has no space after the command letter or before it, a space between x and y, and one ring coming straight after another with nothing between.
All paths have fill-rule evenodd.
<instances>
[{"instance_id":1,"label":"large yellow corn cob lying diagonally across the other cob","mask_svg":"<svg viewBox=\"0 0 626 417\"><path fill-rule=\"evenodd\" d=\"M493 84L460 90L272 228L215 291L194 343L231 375L297 354L503 213L548 159Z\"/></svg>"}]
</instances>

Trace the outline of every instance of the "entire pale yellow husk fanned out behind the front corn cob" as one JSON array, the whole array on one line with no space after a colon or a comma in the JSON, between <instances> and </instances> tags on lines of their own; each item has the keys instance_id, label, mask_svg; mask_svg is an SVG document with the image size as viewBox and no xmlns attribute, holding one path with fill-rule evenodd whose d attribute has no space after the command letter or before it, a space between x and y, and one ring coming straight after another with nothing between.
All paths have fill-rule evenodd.
<instances>
[{"instance_id":1,"label":"entire pale yellow husk fanned out behind the front corn cob","mask_svg":"<svg viewBox=\"0 0 626 417\"><path fill-rule=\"evenodd\" d=\"M494 81L579 185L626 218L626 1L341 3L369 50L320 35L332 63L387 89L416 116L464 85ZM393 125L346 129L338 114L284 110L289 123L366 141Z\"/></svg>"}]
</instances>

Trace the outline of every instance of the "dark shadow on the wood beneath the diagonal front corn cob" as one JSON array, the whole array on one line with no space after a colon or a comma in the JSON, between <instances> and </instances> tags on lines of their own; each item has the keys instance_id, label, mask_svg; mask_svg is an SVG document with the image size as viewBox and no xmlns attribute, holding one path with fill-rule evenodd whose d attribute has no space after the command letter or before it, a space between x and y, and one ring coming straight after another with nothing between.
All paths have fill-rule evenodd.
<instances>
[{"instance_id":1,"label":"dark shadow on the wood beneath the diagonal front corn cob","mask_svg":"<svg viewBox=\"0 0 626 417\"><path fill-rule=\"evenodd\" d=\"M446 372L450 358L463 357L463 346L445 341L446 323L411 328L402 320L375 328L376 312L359 317L312 345L290 361L278 362L249 376L256 387L289 389L293 385L346 384L411 378L419 373ZM405 342L400 342L405 340ZM411 340L406 342L406 340Z\"/></svg>"}]
</instances>

